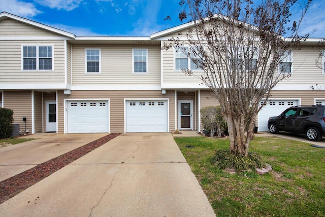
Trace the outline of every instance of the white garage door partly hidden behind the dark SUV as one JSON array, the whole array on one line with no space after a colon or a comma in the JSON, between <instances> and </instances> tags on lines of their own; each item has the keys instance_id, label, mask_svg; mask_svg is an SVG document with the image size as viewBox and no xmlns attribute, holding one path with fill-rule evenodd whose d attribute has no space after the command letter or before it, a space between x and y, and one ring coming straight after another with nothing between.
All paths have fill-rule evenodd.
<instances>
[{"instance_id":1,"label":"white garage door partly hidden behind the dark SUV","mask_svg":"<svg viewBox=\"0 0 325 217\"><path fill-rule=\"evenodd\" d=\"M280 115L286 108L294 105L298 105L298 100L269 100L258 113L258 131L268 131L269 118Z\"/></svg>"}]
</instances>

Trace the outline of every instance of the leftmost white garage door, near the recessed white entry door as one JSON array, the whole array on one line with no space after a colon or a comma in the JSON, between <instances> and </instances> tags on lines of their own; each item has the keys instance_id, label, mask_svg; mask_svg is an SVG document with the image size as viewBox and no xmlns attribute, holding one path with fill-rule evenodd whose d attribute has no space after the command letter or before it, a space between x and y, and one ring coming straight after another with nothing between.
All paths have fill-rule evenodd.
<instances>
[{"instance_id":1,"label":"leftmost white garage door, near the recessed white entry door","mask_svg":"<svg viewBox=\"0 0 325 217\"><path fill-rule=\"evenodd\" d=\"M109 132L108 100L68 101L68 133Z\"/></svg>"}]
</instances>

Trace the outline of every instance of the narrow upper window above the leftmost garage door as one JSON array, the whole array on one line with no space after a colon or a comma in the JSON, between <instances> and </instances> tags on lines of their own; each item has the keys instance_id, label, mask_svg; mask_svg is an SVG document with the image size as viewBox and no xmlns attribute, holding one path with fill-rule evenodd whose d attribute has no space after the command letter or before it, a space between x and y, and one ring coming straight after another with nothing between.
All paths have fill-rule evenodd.
<instances>
[{"instance_id":1,"label":"narrow upper window above the leftmost garage door","mask_svg":"<svg viewBox=\"0 0 325 217\"><path fill-rule=\"evenodd\" d=\"M85 49L86 73L101 73L101 49Z\"/></svg>"}]
</instances>

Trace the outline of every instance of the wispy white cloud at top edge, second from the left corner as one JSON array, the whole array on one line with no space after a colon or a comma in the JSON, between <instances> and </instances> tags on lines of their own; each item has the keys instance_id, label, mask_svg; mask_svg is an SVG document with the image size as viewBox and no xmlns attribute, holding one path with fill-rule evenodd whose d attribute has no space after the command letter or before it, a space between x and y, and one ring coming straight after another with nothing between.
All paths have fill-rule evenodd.
<instances>
[{"instance_id":1,"label":"wispy white cloud at top edge, second from the left corner","mask_svg":"<svg viewBox=\"0 0 325 217\"><path fill-rule=\"evenodd\" d=\"M72 11L75 8L78 8L83 0L36 0L36 2L52 9Z\"/></svg>"}]
</instances>

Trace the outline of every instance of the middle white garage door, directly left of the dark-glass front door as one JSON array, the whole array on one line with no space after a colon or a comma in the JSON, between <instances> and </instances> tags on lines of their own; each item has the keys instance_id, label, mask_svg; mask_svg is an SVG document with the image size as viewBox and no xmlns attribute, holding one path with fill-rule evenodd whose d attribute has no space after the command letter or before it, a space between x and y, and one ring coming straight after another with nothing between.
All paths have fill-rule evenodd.
<instances>
[{"instance_id":1,"label":"middle white garage door, directly left of the dark-glass front door","mask_svg":"<svg viewBox=\"0 0 325 217\"><path fill-rule=\"evenodd\" d=\"M126 132L167 132L167 100L126 100Z\"/></svg>"}]
</instances>

